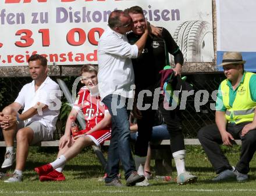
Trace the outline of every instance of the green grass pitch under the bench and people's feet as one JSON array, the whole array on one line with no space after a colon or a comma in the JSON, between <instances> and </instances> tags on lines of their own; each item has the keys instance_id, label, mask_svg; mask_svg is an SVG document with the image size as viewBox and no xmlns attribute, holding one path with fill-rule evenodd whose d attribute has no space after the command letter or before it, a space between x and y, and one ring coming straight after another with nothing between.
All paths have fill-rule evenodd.
<instances>
[{"instance_id":1,"label":"green grass pitch under the bench and people's feet","mask_svg":"<svg viewBox=\"0 0 256 196\"><path fill-rule=\"evenodd\" d=\"M232 165L239 159L239 148L233 150L223 148ZM87 150L87 151L86 151ZM212 183L215 176L201 147L188 147L187 170L198 176L198 182L177 186L175 182L150 180L149 187L106 187L99 181L104 173L97 157L87 148L78 157L65 166L65 182L40 182L34 172L35 166L40 166L55 159L56 148L30 149L29 159L22 183L4 183L0 181L1 195L256 195L256 161L251 161L250 180L247 183L225 182ZM154 173L154 164L152 162ZM174 169L175 170L175 169ZM12 170L8 170L12 172ZM123 175L122 175L123 176ZM176 177L176 171L173 172ZM122 179L125 184L125 180Z\"/></svg>"}]
</instances>

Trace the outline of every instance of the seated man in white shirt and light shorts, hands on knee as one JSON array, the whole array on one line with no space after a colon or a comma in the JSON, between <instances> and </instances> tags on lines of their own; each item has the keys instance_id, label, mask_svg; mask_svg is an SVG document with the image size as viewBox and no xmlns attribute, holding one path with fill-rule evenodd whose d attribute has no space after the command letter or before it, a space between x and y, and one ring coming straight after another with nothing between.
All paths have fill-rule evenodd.
<instances>
[{"instance_id":1,"label":"seated man in white shirt and light shorts, hands on knee","mask_svg":"<svg viewBox=\"0 0 256 196\"><path fill-rule=\"evenodd\" d=\"M53 139L61 108L61 90L47 76L47 59L41 55L32 55L28 61L33 81L24 85L17 99L0 112L0 125L6 144L2 168L8 168L15 162L15 136L17 140L15 172L5 182L22 181L29 146L38 141ZM22 108L23 112L19 114Z\"/></svg>"}]
</instances>

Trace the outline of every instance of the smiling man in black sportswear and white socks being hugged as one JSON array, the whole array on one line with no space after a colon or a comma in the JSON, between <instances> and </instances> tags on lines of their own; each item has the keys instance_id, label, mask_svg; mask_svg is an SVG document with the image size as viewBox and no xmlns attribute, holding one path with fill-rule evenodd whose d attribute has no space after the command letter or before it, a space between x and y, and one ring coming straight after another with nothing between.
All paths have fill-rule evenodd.
<instances>
[{"instance_id":1,"label":"smiling man in black sportswear and white socks being hugged","mask_svg":"<svg viewBox=\"0 0 256 196\"><path fill-rule=\"evenodd\" d=\"M135 43L144 32L146 26L143 10L138 6L133 6L126 10L133 21L133 32L127 35L131 44ZM176 67L173 68L176 77L180 77L182 70L183 55L173 40L172 36L165 28L158 28L162 31L161 37L149 35L145 47L141 55L137 59L133 59L133 68L136 85L136 98L140 100L141 90L150 90L152 96L145 96L143 98L144 104L153 103L153 95L156 88L160 87L161 75L159 71L163 70L166 65L166 56L168 53L172 54L175 59ZM139 96L138 96L139 95ZM171 150L177 168L177 183L186 184L195 182L197 176L186 172L184 157L186 151L184 150L184 137L182 134L182 123L179 108L174 110L165 110L163 107L163 96L159 97L159 110L161 111L165 123L170 133ZM147 156L148 141L151 139L152 126L154 125L155 108L148 108L147 110L140 110L134 113L140 114L141 118L137 120L138 137L135 144L136 169L139 175L144 175L144 163ZM145 179L147 181L147 179ZM137 183L138 186L148 186L147 182Z\"/></svg>"}]
</instances>

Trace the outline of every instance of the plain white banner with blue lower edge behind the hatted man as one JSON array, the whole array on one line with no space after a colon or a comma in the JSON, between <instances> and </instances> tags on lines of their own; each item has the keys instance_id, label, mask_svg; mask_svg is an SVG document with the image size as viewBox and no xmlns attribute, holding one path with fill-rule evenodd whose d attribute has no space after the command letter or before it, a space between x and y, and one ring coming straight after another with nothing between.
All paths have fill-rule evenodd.
<instances>
[{"instance_id":1,"label":"plain white banner with blue lower edge behind the hatted man","mask_svg":"<svg viewBox=\"0 0 256 196\"><path fill-rule=\"evenodd\" d=\"M255 0L216 0L217 64L221 64L224 52L241 52L247 61L245 69L256 71L255 8Z\"/></svg>"}]
</instances>

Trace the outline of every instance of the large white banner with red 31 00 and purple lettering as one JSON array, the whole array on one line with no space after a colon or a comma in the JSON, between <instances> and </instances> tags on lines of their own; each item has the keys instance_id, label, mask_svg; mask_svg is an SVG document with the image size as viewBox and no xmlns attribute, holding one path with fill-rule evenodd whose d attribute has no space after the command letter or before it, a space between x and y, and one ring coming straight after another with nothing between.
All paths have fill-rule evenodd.
<instances>
[{"instance_id":1,"label":"large white banner with red 31 00 and purple lettering","mask_svg":"<svg viewBox=\"0 0 256 196\"><path fill-rule=\"evenodd\" d=\"M45 55L50 65L97 64L97 44L115 9L144 9L165 27L189 62L214 61L211 0L0 0L0 66L26 66Z\"/></svg>"}]
</instances>

